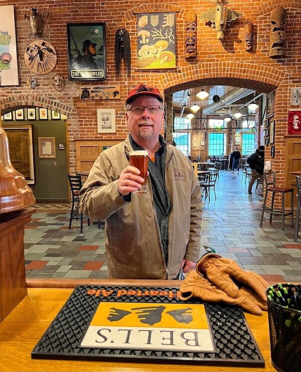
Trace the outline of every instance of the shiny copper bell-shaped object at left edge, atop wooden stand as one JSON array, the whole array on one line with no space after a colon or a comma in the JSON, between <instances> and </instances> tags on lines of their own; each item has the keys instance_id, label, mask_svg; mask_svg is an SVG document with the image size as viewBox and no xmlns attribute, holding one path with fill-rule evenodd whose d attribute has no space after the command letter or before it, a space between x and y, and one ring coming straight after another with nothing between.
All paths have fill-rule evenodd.
<instances>
[{"instance_id":1,"label":"shiny copper bell-shaped object at left edge, atop wooden stand","mask_svg":"<svg viewBox=\"0 0 301 372\"><path fill-rule=\"evenodd\" d=\"M14 212L35 204L25 177L17 172L9 157L8 139L0 119L0 214Z\"/></svg>"}]
</instances>

